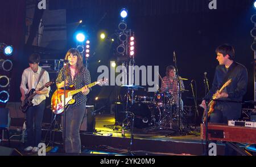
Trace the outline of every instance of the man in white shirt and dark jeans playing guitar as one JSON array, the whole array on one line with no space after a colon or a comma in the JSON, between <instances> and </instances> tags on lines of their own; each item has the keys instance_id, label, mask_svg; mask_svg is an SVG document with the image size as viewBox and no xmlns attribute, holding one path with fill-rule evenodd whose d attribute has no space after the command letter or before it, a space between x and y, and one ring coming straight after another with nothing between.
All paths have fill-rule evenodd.
<instances>
[{"instance_id":1,"label":"man in white shirt and dark jeans playing guitar","mask_svg":"<svg viewBox=\"0 0 256 167\"><path fill-rule=\"evenodd\" d=\"M22 74L22 82L20 83L20 92L23 102L26 98L26 93L31 89L35 89L37 95L32 99L33 106L30 106L26 112L26 126L27 126L27 143L24 151L38 152L38 144L41 141L42 135L42 121L44 108L46 106L46 97L49 97L50 87L44 87L41 91L39 88L49 82L49 74L38 66L40 62L40 55L31 54L28 58L30 67L26 68ZM28 88L26 87L28 85ZM35 125L35 130L34 130Z\"/></svg>"}]
</instances>

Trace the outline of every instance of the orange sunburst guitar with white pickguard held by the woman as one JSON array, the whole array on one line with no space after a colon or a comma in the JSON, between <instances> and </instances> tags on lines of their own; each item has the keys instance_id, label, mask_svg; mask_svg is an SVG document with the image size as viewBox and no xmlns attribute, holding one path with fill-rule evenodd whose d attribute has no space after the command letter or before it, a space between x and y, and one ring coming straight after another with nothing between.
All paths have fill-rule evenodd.
<instances>
[{"instance_id":1,"label":"orange sunburst guitar with white pickguard held by the woman","mask_svg":"<svg viewBox=\"0 0 256 167\"><path fill-rule=\"evenodd\" d=\"M87 86L91 88L95 85L104 85L108 82L108 79L98 80L96 82L90 83ZM65 91L65 108L68 109L69 105L75 104L76 100L73 99L77 93L82 92L82 88L74 89L75 87L69 87ZM64 89L57 89L51 99L52 112L55 114L61 114L64 112Z\"/></svg>"}]
</instances>

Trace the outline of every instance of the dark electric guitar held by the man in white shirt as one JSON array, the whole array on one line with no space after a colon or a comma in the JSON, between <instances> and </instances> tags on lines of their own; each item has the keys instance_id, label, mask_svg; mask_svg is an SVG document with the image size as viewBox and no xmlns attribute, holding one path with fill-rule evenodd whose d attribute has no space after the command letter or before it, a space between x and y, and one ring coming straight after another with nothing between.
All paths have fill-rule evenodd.
<instances>
[{"instance_id":1,"label":"dark electric guitar held by the man in white shirt","mask_svg":"<svg viewBox=\"0 0 256 167\"><path fill-rule=\"evenodd\" d=\"M45 87L49 87L51 84L53 84L53 82L47 82L46 84L43 85L43 87L39 88L38 91L42 91ZM22 104L20 105L20 110L23 113L27 112L27 109L30 106L33 106L34 104L32 103L33 97L37 95L35 92L35 89L31 89L30 92L27 93L26 98L24 101L22 101Z\"/></svg>"}]
</instances>

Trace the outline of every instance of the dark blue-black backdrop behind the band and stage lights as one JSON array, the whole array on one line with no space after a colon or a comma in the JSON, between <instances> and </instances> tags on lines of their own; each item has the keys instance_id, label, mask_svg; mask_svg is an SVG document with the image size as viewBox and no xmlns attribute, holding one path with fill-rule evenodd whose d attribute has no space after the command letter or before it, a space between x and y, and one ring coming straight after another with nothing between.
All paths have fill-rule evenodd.
<instances>
[{"instance_id":1,"label":"dark blue-black backdrop behind the band and stage lights","mask_svg":"<svg viewBox=\"0 0 256 167\"><path fill-rule=\"evenodd\" d=\"M255 14L253 1L217 0L217 9L209 10L210 1L153 1L153 0L95 0L95 1L49 1L49 9L67 9L67 24L82 19L80 29L84 29L91 42L91 52L95 53L89 60L92 81L97 79L97 67L108 65L114 54L116 41L99 42L98 32L104 30L109 36L118 29L119 11L126 7L129 15L126 19L128 28L135 32L136 65L159 66L161 76L165 75L166 66L173 65L172 53L176 52L179 74L185 81L186 89L191 90L191 79L197 82L198 96L204 96L203 74L207 72L212 83L214 69L218 65L214 50L218 45L229 43L234 46L236 61L242 63L249 72L249 84L244 100L254 99L254 53L250 48L253 37L250 31L254 27L250 17ZM1 1L3 4L3 1ZM11 100L19 100L20 75L27 67L24 54L24 1L9 1L1 5L0 41L13 44L15 52L12 57L14 69L11 73ZM11 19L9 19L11 18ZM67 27L68 48L76 46L73 33L76 29ZM63 53L67 52L64 50ZM64 58L64 54L61 57ZM101 59L101 63L96 63ZM1 71L2 72L2 71ZM96 87L90 93L95 97L101 88ZM191 92L183 95L185 104L193 104ZM18 98L17 98L18 97Z\"/></svg>"}]
</instances>

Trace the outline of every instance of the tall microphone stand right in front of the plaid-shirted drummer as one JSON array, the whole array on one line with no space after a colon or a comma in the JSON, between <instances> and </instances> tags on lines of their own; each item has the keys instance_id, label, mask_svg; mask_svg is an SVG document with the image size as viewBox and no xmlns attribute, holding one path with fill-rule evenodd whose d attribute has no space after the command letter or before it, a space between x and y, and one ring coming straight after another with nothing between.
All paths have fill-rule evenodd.
<instances>
[{"instance_id":1,"label":"tall microphone stand right in front of the plaid-shirted drummer","mask_svg":"<svg viewBox=\"0 0 256 167\"><path fill-rule=\"evenodd\" d=\"M177 68L177 60L176 60L176 54L174 51L174 64L175 64L175 70L176 70L176 75L177 79L179 81L178 84L178 105L177 105L177 110L178 110L178 129L179 129L179 134L181 133L181 79L179 78L179 71Z\"/></svg>"}]
</instances>

